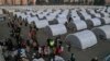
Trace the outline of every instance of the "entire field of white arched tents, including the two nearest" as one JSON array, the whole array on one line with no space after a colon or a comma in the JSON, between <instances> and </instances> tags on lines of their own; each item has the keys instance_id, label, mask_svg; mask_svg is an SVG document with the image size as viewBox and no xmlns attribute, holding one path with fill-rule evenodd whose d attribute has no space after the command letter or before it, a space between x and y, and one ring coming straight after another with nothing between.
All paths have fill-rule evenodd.
<instances>
[{"instance_id":1,"label":"entire field of white arched tents, including the two nearest","mask_svg":"<svg viewBox=\"0 0 110 61\"><path fill-rule=\"evenodd\" d=\"M66 40L73 46L86 49L96 45L99 39L110 38L109 10L110 8L19 10L13 11L12 15L28 21L29 24L34 22L37 28L44 28L52 36L66 34L68 27L76 28L76 33L68 34Z\"/></svg>"}]
</instances>

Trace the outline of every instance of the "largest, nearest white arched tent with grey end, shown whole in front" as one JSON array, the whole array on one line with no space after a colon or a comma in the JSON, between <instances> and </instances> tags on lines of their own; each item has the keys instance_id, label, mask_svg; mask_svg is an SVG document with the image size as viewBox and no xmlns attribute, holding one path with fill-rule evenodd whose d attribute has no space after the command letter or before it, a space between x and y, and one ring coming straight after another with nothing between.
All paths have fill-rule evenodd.
<instances>
[{"instance_id":1,"label":"largest, nearest white arched tent with grey end, shown whole in front","mask_svg":"<svg viewBox=\"0 0 110 61\"><path fill-rule=\"evenodd\" d=\"M97 44L95 34L88 29L69 34L66 36L66 40L69 41L72 46L76 46L81 49L89 48Z\"/></svg>"}]
</instances>

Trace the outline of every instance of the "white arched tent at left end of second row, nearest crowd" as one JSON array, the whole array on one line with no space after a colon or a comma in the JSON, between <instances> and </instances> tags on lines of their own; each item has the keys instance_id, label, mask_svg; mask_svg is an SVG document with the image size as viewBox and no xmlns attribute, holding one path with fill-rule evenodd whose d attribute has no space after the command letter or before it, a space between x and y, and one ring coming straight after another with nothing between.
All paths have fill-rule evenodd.
<instances>
[{"instance_id":1,"label":"white arched tent at left end of second row, nearest crowd","mask_svg":"<svg viewBox=\"0 0 110 61\"><path fill-rule=\"evenodd\" d=\"M46 32L47 32L48 36L57 36L57 35L66 34L67 29L66 29L65 25L56 24L56 25L47 26Z\"/></svg>"}]
</instances>

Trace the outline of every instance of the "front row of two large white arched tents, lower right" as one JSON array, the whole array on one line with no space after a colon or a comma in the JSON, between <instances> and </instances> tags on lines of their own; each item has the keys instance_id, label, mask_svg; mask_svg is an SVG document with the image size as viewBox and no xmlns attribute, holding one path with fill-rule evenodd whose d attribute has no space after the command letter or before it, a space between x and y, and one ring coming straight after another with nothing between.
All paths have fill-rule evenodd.
<instances>
[{"instance_id":1,"label":"front row of two large white arched tents, lower right","mask_svg":"<svg viewBox=\"0 0 110 61\"><path fill-rule=\"evenodd\" d=\"M95 46L98 40L110 39L110 25L85 29L66 36L67 42L80 49Z\"/></svg>"}]
</instances>

